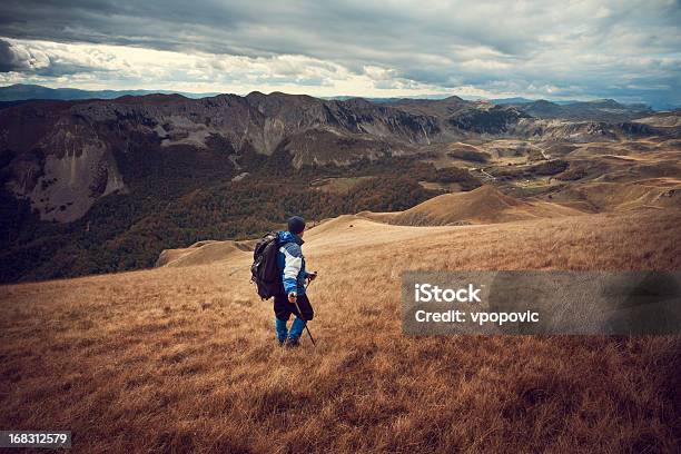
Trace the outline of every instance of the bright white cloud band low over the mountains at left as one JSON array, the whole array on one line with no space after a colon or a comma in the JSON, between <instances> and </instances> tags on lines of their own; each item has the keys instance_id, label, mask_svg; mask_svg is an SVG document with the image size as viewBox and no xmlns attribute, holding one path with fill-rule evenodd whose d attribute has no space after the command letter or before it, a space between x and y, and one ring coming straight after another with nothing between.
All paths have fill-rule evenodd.
<instances>
[{"instance_id":1,"label":"bright white cloud band low over the mountains at left","mask_svg":"<svg viewBox=\"0 0 681 454\"><path fill-rule=\"evenodd\" d=\"M77 82L85 89L134 87L237 93L278 90L317 96L338 92L383 96L420 88L416 82L393 79L392 71L382 68L369 67L357 75L340 65L305 56L243 57L110 45L7 41L17 53L46 56L47 63L29 75L0 73L6 83L23 81L57 87ZM58 73L60 70L63 73ZM377 80L388 80L394 87L376 88ZM421 87L422 93L437 91L437 87Z\"/></svg>"}]
</instances>

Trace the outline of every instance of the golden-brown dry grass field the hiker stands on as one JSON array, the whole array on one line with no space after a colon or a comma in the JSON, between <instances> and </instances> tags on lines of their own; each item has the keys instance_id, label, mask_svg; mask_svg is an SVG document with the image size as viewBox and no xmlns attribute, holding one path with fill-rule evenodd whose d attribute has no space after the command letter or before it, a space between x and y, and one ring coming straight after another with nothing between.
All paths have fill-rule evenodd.
<instances>
[{"instance_id":1,"label":"golden-brown dry grass field the hiker stands on","mask_svg":"<svg viewBox=\"0 0 681 454\"><path fill-rule=\"evenodd\" d=\"M406 269L681 269L681 211L306 234L319 278L297 351L250 254L0 287L0 428L73 452L678 452L678 337L406 337ZM215 246L210 248L215 251ZM200 251L200 248L198 248Z\"/></svg>"}]
</instances>

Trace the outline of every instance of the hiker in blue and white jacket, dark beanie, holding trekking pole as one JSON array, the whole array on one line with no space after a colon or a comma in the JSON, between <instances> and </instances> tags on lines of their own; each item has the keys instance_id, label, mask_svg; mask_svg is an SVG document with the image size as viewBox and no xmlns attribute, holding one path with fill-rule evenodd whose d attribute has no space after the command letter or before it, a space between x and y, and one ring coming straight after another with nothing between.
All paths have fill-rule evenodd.
<instances>
[{"instance_id":1,"label":"hiker in blue and white jacket, dark beanie, holding trekking pole","mask_svg":"<svg viewBox=\"0 0 681 454\"><path fill-rule=\"evenodd\" d=\"M277 253L277 267L282 274L283 288L275 295L274 309L276 317L277 340L279 345L297 347L305 324L313 319L313 310L307 295L305 295L306 279L314 280L317 273L305 269L303 257L303 234L305 220L298 216L288 219L288 230L278 231L279 250ZM298 313L300 308L300 314ZM288 330L287 322L290 315L296 316Z\"/></svg>"}]
</instances>

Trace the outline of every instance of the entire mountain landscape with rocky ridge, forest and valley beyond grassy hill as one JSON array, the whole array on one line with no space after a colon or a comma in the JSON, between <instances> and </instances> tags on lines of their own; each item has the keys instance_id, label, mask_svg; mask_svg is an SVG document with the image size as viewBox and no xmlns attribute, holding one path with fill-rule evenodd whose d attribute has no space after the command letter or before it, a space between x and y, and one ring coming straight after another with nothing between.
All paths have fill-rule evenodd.
<instances>
[{"instance_id":1,"label":"entire mountain landscape with rocky ridge, forest and valley beyond grassy hill","mask_svg":"<svg viewBox=\"0 0 681 454\"><path fill-rule=\"evenodd\" d=\"M554 190L545 176L598 174L584 155L679 137L675 112L611 100L24 100L0 108L0 280L146 267L161 249L253 238L293 213L405 210L490 181ZM531 191L516 186L505 190Z\"/></svg>"}]
</instances>

